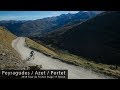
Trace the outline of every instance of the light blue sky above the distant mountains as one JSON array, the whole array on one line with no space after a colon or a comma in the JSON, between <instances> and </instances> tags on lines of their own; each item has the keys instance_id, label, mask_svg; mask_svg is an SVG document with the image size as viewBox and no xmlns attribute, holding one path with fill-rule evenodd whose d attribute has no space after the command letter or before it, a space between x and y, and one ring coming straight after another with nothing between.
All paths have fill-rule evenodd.
<instances>
[{"instance_id":1,"label":"light blue sky above the distant mountains","mask_svg":"<svg viewBox=\"0 0 120 90\"><path fill-rule=\"evenodd\" d=\"M78 11L0 11L0 20L35 20Z\"/></svg>"}]
</instances>

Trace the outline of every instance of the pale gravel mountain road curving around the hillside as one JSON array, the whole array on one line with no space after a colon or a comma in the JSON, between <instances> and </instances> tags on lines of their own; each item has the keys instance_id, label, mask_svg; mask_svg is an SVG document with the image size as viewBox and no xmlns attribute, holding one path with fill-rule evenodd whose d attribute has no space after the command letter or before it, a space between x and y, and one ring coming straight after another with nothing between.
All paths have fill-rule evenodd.
<instances>
[{"instance_id":1,"label":"pale gravel mountain road curving around the hillside","mask_svg":"<svg viewBox=\"0 0 120 90\"><path fill-rule=\"evenodd\" d=\"M25 38L18 37L13 40L12 47L21 55L21 58L25 60L29 57L31 49L25 46ZM110 77L93 72L91 70L84 69L79 66L74 66L61 62L60 60L53 59L45 56L44 54L35 51L35 59L27 61L28 63L42 65L43 69L67 69L69 79L109 79Z\"/></svg>"}]
</instances>

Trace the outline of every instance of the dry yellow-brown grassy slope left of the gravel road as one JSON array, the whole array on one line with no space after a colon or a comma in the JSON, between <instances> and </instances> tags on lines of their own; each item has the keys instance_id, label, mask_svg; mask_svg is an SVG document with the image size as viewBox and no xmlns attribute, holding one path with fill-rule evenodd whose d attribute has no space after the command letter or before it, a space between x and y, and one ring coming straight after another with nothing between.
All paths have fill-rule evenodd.
<instances>
[{"instance_id":1,"label":"dry yellow-brown grassy slope left of the gravel road","mask_svg":"<svg viewBox=\"0 0 120 90\"><path fill-rule=\"evenodd\" d=\"M0 27L0 70L24 69L26 64L12 48L11 42L16 38L6 28Z\"/></svg>"}]
</instances>

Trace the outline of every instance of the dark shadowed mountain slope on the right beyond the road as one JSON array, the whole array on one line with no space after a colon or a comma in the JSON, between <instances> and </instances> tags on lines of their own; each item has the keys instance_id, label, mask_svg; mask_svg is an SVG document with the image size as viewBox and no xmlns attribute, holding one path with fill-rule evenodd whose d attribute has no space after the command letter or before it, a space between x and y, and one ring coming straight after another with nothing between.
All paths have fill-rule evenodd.
<instances>
[{"instance_id":1,"label":"dark shadowed mountain slope on the right beyond the road","mask_svg":"<svg viewBox=\"0 0 120 90\"><path fill-rule=\"evenodd\" d=\"M77 26L33 39L98 63L120 65L120 12L104 12Z\"/></svg>"}]
</instances>

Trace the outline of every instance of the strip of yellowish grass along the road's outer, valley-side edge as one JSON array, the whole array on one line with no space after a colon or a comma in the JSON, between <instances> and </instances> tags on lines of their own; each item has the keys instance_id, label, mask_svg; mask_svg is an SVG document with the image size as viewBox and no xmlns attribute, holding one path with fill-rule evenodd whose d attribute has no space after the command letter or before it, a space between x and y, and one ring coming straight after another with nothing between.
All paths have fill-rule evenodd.
<instances>
[{"instance_id":1,"label":"strip of yellowish grass along the road's outer, valley-side edge","mask_svg":"<svg viewBox=\"0 0 120 90\"><path fill-rule=\"evenodd\" d=\"M111 69L110 66L115 66L89 61L86 58L70 54L67 51L57 50L53 47L46 46L43 43L37 43L29 38L26 38L26 45L31 49L39 51L47 56L50 56L51 58L59 59L62 62L91 69L95 72L103 73L114 78L120 78L120 66L118 66L117 69Z\"/></svg>"}]
</instances>

